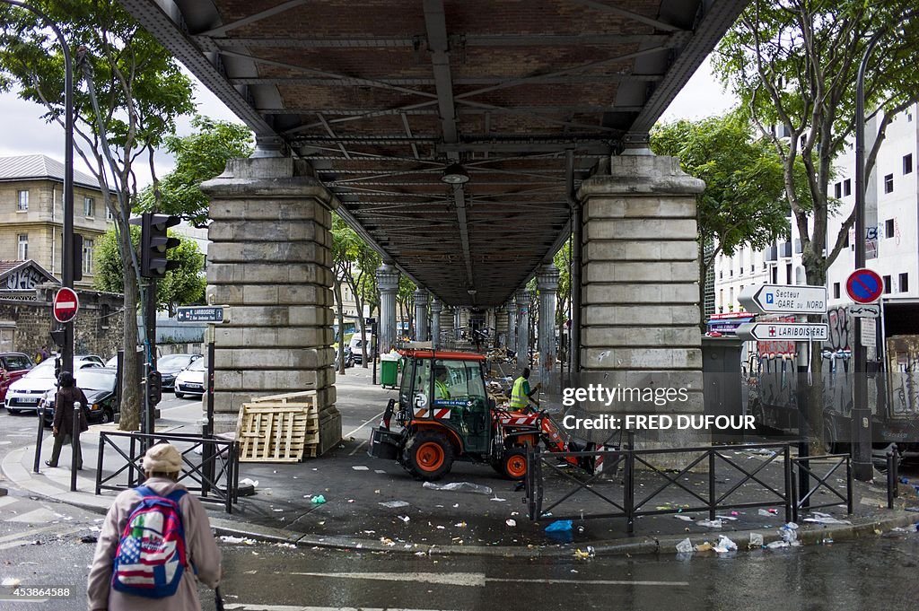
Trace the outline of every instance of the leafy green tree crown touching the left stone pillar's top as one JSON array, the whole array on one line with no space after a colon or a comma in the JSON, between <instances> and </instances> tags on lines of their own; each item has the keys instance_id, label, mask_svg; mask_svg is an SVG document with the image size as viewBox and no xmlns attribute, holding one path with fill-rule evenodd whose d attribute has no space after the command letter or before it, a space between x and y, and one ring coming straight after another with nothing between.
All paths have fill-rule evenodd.
<instances>
[{"instance_id":1,"label":"leafy green tree crown touching the left stone pillar's top","mask_svg":"<svg viewBox=\"0 0 919 611\"><path fill-rule=\"evenodd\" d=\"M252 132L239 123L201 115L195 115L191 125L194 133L165 138L165 149L175 156L176 168L142 190L139 208L175 214L201 227L208 221L210 203L201 192L201 183L221 175L228 160L248 157L253 151Z\"/></svg>"}]
</instances>

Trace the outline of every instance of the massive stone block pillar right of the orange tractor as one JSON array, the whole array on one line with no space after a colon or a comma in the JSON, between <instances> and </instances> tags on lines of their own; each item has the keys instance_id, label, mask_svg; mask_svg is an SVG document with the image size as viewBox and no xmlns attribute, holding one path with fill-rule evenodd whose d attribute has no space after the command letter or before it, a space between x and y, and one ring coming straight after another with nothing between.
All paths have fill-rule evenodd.
<instances>
[{"instance_id":1,"label":"massive stone block pillar right of the orange tractor","mask_svg":"<svg viewBox=\"0 0 919 611\"><path fill-rule=\"evenodd\" d=\"M592 413L703 413L696 197L674 157L620 155L585 180L581 370L577 386L683 390L663 401L584 402ZM595 434L596 436L599 433ZM640 431L640 447L707 443L707 433ZM665 461L664 461L665 464Z\"/></svg>"}]
</instances>

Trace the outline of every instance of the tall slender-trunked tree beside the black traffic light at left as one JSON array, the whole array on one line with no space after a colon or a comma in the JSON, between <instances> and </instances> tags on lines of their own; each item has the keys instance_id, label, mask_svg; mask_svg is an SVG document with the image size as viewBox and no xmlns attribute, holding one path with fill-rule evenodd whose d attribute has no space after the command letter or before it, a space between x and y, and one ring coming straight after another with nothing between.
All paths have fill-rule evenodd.
<instances>
[{"instance_id":1,"label":"tall slender-trunked tree beside the black traffic light at left","mask_svg":"<svg viewBox=\"0 0 919 611\"><path fill-rule=\"evenodd\" d=\"M76 58L74 139L76 154L99 182L115 218L125 311L137 308L139 276L128 220L137 194L134 164L147 163L155 180L153 152L175 119L193 110L192 87L172 54L143 30L116 0L31 0L59 28ZM63 56L38 17L0 6L0 86L45 107L44 118L63 126ZM140 424L138 329L124 325L125 376L120 427ZM148 350L149 353L149 350Z\"/></svg>"}]
</instances>

